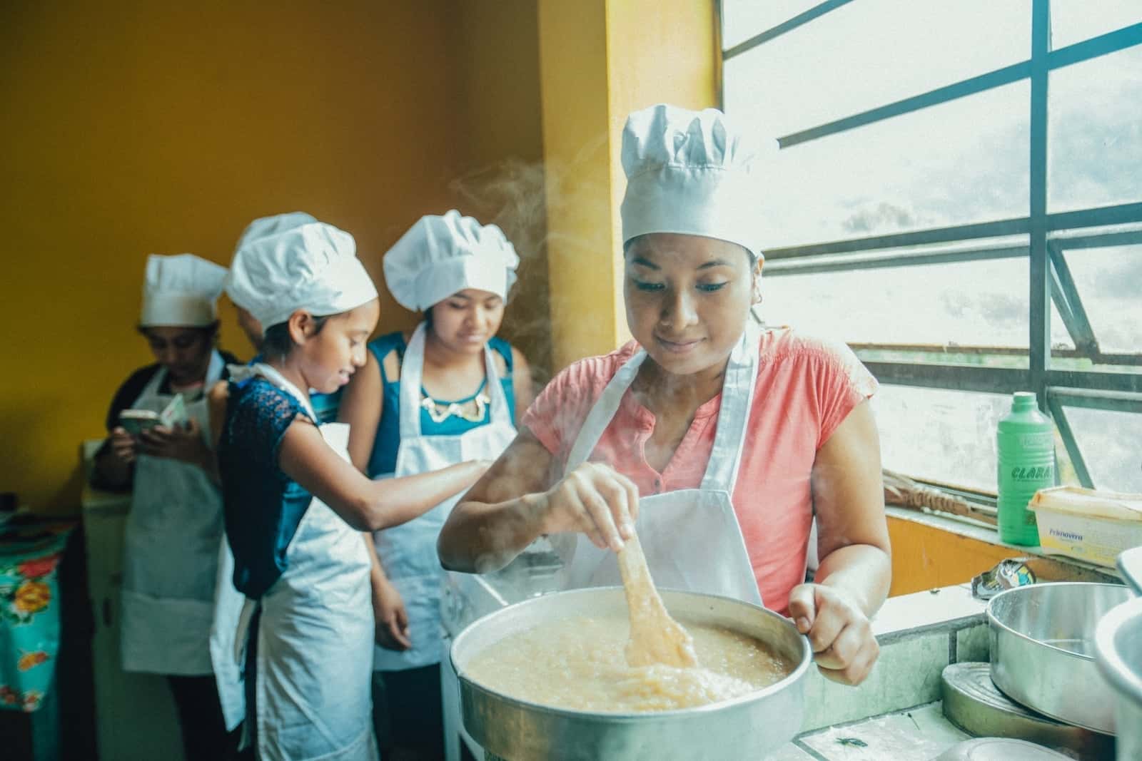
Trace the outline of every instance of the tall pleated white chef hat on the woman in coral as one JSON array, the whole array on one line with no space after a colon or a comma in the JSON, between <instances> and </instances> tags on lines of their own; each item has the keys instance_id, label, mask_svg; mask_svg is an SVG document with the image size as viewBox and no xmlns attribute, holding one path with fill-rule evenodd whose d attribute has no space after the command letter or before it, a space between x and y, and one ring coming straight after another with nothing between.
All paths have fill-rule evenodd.
<instances>
[{"instance_id":1,"label":"tall pleated white chef hat on the woman in coral","mask_svg":"<svg viewBox=\"0 0 1142 761\"><path fill-rule=\"evenodd\" d=\"M658 104L636 111L622 130L622 242L646 233L730 241L761 258L755 151L716 108Z\"/></svg>"}]
</instances>

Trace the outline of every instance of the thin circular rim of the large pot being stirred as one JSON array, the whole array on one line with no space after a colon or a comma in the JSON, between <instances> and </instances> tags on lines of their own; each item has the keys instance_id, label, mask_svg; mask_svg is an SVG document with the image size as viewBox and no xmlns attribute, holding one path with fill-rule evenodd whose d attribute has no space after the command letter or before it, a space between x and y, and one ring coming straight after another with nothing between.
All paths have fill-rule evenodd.
<instances>
[{"instance_id":1,"label":"thin circular rim of the large pot being stirred","mask_svg":"<svg viewBox=\"0 0 1142 761\"><path fill-rule=\"evenodd\" d=\"M533 597L530 600L523 600L522 602L515 602L514 605L509 605L506 608L501 608L499 610L494 610L492 613L489 613L488 615L485 615L485 616L483 616L481 618L477 618L476 621L474 621L471 624L468 624L465 628L465 630L461 631L456 637L456 639L452 640L452 646L449 648L449 653L448 653L449 661L451 661L451 663L452 663L452 669L453 669L453 671L456 671L456 674L457 674L457 677L460 680L463 680L463 681L465 681L465 682L468 683L468 687L471 689L478 690L480 693L482 693L484 695L494 697L496 699L499 699L499 701L504 701L504 702L506 702L506 703L508 703L510 705L514 705L514 706L526 709L528 711L536 711L536 712L540 712L540 713L548 713L548 714L554 714L554 715L558 715L558 717L568 717L568 718L576 718L576 719L593 719L593 718L598 718L598 719L604 719L608 722L618 722L618 723L632 722L633 723L633 722L654 721L654 720L659 720L659 719L692 718L692 717L695 717L695 715L701 715L703 713L713 713L715 711L724 711L726 709L730 709L730 707L733 707L733 706L737 706L737 705L741 705L741 704L746 704L746 703L751 703L754 701L759 701L759 699L762 699L764 697L767 697L767 696L770 696L770 695L772 695L774 693L778 693L778 691L785 689L786 687L788 687L789 685L793 685L794 682L798 681L802 677L804 677L805 672L809 671L809 666L813 662L813 650L812 650L812 647L809 643L809 638L805 637L804 634L802 634L801 632L797 632L796 625L793 623L793 621L790 621L789 618L786 618L781 614L775 613L773 610L770 610L769 608L764 608L764 607L762 607L759 605L754 605L753 602L746 602L743 600L739 600L739 599L732 598L732 597L726 597L724 594L707 594L705 592L691 592L691 591L675 590L675 589L668 589L668 588L660 588L659 591L668 593L668 594L671 594L671 596L685 594L685 596L697 597L697 598L702 598L702 599L725 600L725 601L732 602L734 605L746 606L746 607L749 607L749 608L754 608L755 610L759 610L761 613L763 613L763 614L765 614L767 616L773 616L773 617L780 620L785 625L793 626L794 631L797 633L797 637L798 637L798 640L799 640L799 645L801 645L801 659L798 661L798 663L794 667L794 670L791 672L789 672L788 674L786 674L783 678L781 678L780 680L773 682L769 687L763 687L762 689L755 690L753 693L746 693L745 695L739 695L738 697L733 697L733 698L730 698L730 699L726 699L726 701L718 701L716 703L708 703L706 705L697 705L697 706L691 706L691 707L687 707L687 709L671 709L669 711L638 711L638 712L577 711L574 709L561 709L561 707L556 707L556 706L552 706L552 705L546 705L546 704L542 704L542 703L530 703L528 701L521 701L520 698L513 697L510 695L505 695L504 693L497 693L496 690L492 690L492 689L489 689L488 687L484 687L480 682L477 682L474 679L472 679L471 677L468 677L465 673L465 671L463 669L460 669L460 666L456 662L457 646L459 646L459 645L461 645L464 642L464 638L466 635L468 635L469 632L474 631L481 624L486 625L488 622L490 620L494 618L494 617L507 615L508 610L517 610L520 608L523 608L523 607L530 606L530 605L547 604L546 602L547 599L550 598L550 597L554 597L554 596L590 594L590 593L597 593L597 592L604 592L604 591L616 591L616 590L621 591L622 588L621 586L589 586L589 588L586 588L586 589L573 589L573 590L563 590L563 591L560 591L560 592L549 592L547 594L540 594L539 597ZM743 632L743 633L748 633L748 632ZM749 634L749 635L754 637L754 634Z\"/></svg>"}]
</instances>

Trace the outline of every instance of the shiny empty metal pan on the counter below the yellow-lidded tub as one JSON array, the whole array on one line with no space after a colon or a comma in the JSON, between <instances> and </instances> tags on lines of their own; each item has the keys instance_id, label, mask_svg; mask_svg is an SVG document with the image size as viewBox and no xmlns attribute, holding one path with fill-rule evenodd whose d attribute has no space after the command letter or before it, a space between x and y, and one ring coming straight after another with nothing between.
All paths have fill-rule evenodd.
<instances>
[{"instance_id":1,"label":"shiny empty metal pan on the counter below the yellow-lidded tub","mask_svg":"<svg viewBox=\"0 0 1142 761\"><path fill-rule=\"evenodd\" d=\"M1053 719L1115 734L1113 693L1094 661L1099 620L1131 598L1117 584L1031 584L988 604L991 681Z\"/></svg>"}]
</instances>

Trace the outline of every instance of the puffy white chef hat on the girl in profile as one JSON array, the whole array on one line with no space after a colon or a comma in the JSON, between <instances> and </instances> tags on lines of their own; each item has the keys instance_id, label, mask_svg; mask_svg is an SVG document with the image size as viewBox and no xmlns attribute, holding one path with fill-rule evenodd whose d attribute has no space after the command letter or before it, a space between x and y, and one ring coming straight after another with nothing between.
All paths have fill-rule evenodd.
<instances>
[{"instance_id":1,"label":"puffy white chef hat on the girl in profile","mask_svg":"<svg viewBox=\"0 0 1142 761\"><path fill-rule=\"evenodd\" d=\"M298 309L336 315L377 298L353 236L319 221L247 238L234 252L226 292L263 331Z\"/></svg>"}]
</instances>

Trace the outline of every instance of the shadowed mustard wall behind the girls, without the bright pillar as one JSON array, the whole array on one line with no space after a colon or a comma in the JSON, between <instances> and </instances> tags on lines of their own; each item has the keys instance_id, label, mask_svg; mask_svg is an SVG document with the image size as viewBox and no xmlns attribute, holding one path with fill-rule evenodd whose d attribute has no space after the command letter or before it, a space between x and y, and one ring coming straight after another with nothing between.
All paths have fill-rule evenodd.
<instances>
[{"instance_id":1,"label":"shadowed mustard wall behind the girls, without the bright pillar","mask_svg":"<svg viewBox=\"0 0 1142 761\"><path fill-rule=\"evenodd\" d=\"M537 159L533 3L497 5L0 3L0 491L75 508L78 443L150 362L146 254L225 264L250 219L304 209L380 283L417 217L467 210L457 177L516 145ZM529 9L531 41L496 38L505 19L526 34ZM381 330L413 319L383 293ZM249 354L228 308L223 346Z\"/></svg>"}]
</instances>

